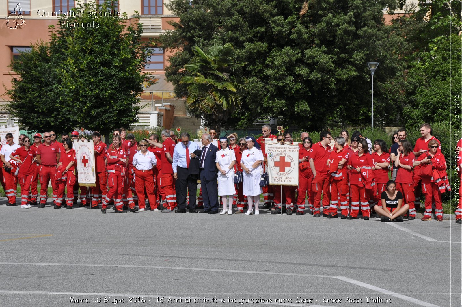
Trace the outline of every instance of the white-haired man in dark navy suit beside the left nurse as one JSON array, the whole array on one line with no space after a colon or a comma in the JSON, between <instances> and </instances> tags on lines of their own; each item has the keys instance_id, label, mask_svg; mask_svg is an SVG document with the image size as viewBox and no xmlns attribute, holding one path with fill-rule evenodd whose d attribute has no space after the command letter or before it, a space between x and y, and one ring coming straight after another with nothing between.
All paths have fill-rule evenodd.
<instances>
[{"instance_id":1,"label":"white-haired man in dark navy suit beside the left nurse","mask_svg":"<svg viewBox=\"0 0 462 307\"><path fill-rule=\"evenodd\" d=\"M204 201L204 210L199 213L218 213L218 169L215 162L218 147L212 144L212 137L204 133L201 137L202 147L201 167L201 188Z\"/></svg>"}]
</instances>

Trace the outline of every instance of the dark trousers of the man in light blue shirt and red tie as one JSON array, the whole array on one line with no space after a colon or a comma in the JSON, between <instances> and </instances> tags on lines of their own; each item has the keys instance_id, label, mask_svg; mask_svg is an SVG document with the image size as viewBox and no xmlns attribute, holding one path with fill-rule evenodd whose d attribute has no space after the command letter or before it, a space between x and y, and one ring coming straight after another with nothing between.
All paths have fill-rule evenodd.
<instances>
[{"instance_id":1,"label":"dark trousers of the man in light blue shirt and red tie","mask_svg":"<svg viewBox=\"0 0 462 307\"><path fill-rule=\"evenodd\" d=\"M186 209L186 193L189 192L189 209L196 209L197 174L189 174L187 168L177 167L176 203L179 209Z\"/></svg>"}]
</instances>

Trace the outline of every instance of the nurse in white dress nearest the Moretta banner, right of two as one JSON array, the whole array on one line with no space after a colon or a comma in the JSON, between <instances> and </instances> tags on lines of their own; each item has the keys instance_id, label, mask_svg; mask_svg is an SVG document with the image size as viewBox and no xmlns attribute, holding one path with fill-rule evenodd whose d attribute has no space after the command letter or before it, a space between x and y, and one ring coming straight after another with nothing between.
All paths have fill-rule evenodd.
<instances>
[{"instance_id":1,"label":"nurse in white dress nearest the Moretta banner, right of two","mask_svg":"<svg viewBox=\"0 0 462 307\"><path fill-rule=\"evenodd\" d=\"M247 196L249 202L249 209L245 215L251 215L253 213L254 205L255 215L259 215L258 203L260 202L260 194L262 193L260 178L263 173L263 168L261 167L263 153L254 137L246 136L245 143L248 149L244 150L241 158L241 166L243 169L243 194Z\"/></svg>"}]
</instances>

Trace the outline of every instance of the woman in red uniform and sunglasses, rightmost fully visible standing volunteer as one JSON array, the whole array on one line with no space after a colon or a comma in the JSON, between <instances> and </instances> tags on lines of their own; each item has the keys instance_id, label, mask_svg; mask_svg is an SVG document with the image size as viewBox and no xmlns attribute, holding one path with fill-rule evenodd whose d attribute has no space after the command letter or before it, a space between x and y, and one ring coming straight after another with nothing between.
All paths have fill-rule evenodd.
<instances>
[{"instance_id":1,"label":"woman in red uniform and sunglasses, rightmost fully visible standing volunteer","mask_svg":"<svg viewBox=\"0 0 462 307\"><path fill-rule=\"evenodd\" d=\"M419 167L419 175L422 178L422 192L425 195L425 214L422 221L432 221L432 201L435 202L435 215L437 221L443 221L443 202L441 194L445 192L445 184L438 184L438 179L447 179L446 160L444 155L438 151L440 144L437 140L428 141L428 152L421 154L413 163L414 172ZM414 174L415 177L415 174Z\"/></svg>"}]
</instances>

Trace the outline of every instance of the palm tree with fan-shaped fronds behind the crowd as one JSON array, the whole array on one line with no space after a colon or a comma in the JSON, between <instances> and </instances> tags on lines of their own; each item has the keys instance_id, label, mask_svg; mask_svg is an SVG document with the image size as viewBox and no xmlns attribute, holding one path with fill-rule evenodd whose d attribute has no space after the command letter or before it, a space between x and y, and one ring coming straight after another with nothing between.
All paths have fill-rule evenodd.
<instances>
[{"instance_id":1,"label":"palm tree with fan-shaped fronds behind the crowd","mask_svg":"<svg viewBox=\"0 0 462 307\"><path fill-rule=\"evenodd\" d=\"M207 114L213 121L226 120L242 104L247 92L247 79L241 76L246 63L236 62L231 43L214 44L202 51L195 47L195 56L184 66L187 76L180 83L189 84L186 104L190 109Z\"/></svg>"}]
</instances>

